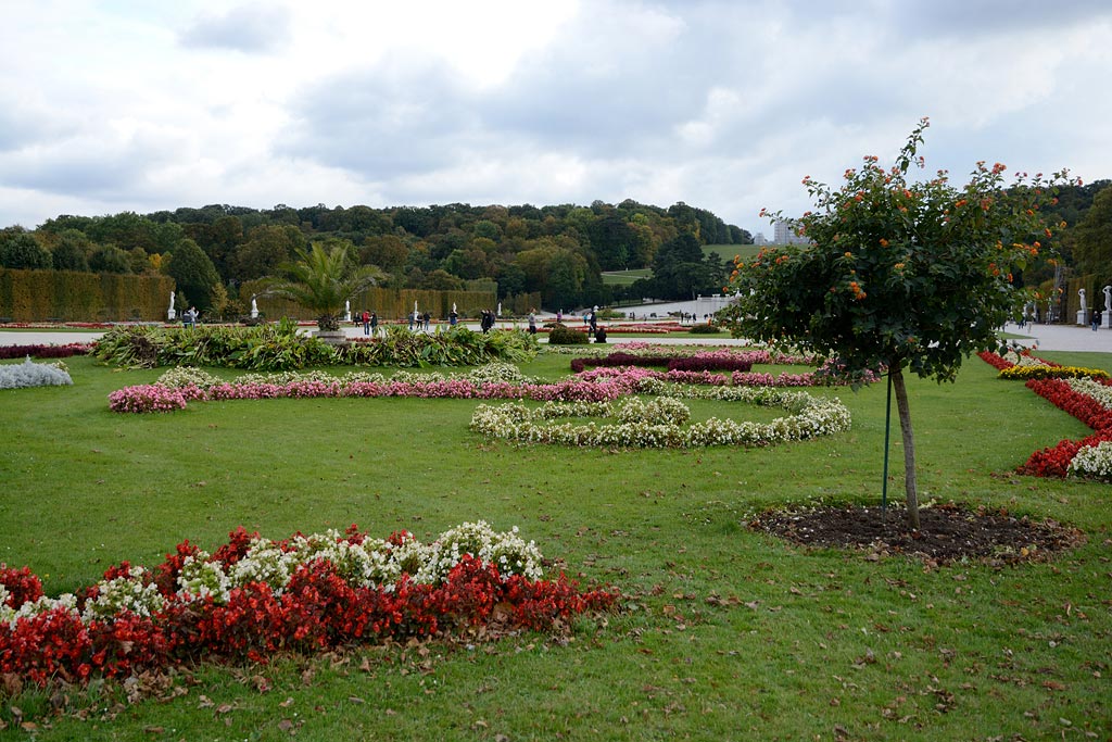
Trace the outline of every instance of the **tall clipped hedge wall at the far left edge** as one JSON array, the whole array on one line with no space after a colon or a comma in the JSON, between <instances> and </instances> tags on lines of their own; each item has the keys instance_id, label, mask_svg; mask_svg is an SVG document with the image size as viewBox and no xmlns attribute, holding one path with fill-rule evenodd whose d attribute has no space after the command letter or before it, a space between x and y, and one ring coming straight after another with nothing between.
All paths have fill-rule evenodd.
<instances>
[{"instance_id":1,"label":"tall clipped hedge wall at the far left edge","mask_svg":"<svg viewBox=\"0 0 1112 742\"><path fill-rule=\"evenodd\" d=\"M0 268L0 318L11 321L166 319L173 279Z\"/></svg>"}]
</instances>

